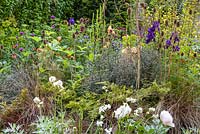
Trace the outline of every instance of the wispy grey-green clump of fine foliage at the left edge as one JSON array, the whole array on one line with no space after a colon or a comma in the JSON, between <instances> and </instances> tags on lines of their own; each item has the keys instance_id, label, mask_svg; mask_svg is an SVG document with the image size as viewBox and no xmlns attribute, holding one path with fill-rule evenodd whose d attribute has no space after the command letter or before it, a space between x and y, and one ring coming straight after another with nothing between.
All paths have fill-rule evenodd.
<instances>
[{"instance_id":1,"label":"wispy grey-green clump of fine foliage at the left edge","mask_svg":"<svg viewBox=\"0 0 200 134\"><path fill-rule=\"evenodd\" d=\"M2 101L11 102L24 88L33 91L37 85L36 76L29 69L13 70L0 81L0 96Z\"/></svg>"}]
</instances>

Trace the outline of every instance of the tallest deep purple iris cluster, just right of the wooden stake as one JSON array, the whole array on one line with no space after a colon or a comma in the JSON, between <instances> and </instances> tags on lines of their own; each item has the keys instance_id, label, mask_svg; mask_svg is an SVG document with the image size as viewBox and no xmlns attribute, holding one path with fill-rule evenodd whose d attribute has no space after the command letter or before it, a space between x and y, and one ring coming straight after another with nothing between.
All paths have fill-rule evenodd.
<instances>
[{"instance_id":1,"label":"tallest deep purple iris cluster, just right of the wooden stake","mask_svg":"<svg viewBox=\"0 0 200 134\"><path fill-rule=\"evenodd\" d=\"M155 36L156 36L155 31L156 31L156 29L158 31L160 31L160 23L158 21L154 21L153 22L153 26L148 29L148 34L146 36L147 37L146 44L148 44L149 42L155 40Z\"/></svg>"}]
</instances>

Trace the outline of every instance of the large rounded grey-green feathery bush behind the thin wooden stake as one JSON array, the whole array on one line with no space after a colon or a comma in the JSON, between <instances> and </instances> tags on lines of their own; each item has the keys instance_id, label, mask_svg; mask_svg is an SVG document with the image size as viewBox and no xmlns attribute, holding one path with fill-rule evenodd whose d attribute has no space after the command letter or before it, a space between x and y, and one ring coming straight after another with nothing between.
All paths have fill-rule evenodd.
<instances>
[{"instance_id":1,"label":"large rounded grey-green feathery bush behind the thin wooden stake","mask_svg":"<svg viewBox=\"0 0 200 134\"><path fill-rule=\"evenodd\" d=\"M118 85L135 87L137 76L137 52L124 48L122 51L105 50L93 65L86 85L92 91L101 90L97 82L109 81ZM144 49L141 53L141 85L148 86L159 75L159 55L156 51Z\"/></svg>"}]
</instances>

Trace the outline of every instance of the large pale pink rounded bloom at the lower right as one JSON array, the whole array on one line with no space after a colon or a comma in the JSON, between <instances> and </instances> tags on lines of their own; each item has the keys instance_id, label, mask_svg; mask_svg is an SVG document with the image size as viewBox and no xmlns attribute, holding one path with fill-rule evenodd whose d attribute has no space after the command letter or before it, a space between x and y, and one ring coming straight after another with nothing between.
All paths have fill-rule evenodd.
<instances>
[{"instance_id":1,"label":"large pale pink rounded bloom at the lower right","mask_svg":"<svg viewBox=\"0 0 200 134\"><path fill-rule=\"evenodd\" d=\"M174 127L175 126L174 123L173 123L172 115L168 111L163 110L160 113L160 120L166 126L170 126L170 127Z\"/></svg>"}]
</instances>

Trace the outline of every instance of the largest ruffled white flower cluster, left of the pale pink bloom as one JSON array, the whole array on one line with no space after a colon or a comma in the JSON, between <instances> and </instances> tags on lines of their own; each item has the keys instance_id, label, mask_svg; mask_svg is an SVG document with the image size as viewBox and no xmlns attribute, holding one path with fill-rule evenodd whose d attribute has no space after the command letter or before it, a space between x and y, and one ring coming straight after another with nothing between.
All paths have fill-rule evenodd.
<instances>
[{"instance_id":1,"label":"largest ruffled white flower cluster, left of the pale pink bloom","mask_svg":"<svg viewBox=\"0 0 200 134\"><path fill-rule=\"evenodd\" d=\"M132 109L129 107L127 103L124 103L117 110L114 111L115 118L120 119L125 117L127 114L130 114Z\"/></svg>"}]
</instances>

